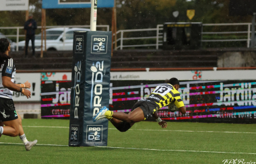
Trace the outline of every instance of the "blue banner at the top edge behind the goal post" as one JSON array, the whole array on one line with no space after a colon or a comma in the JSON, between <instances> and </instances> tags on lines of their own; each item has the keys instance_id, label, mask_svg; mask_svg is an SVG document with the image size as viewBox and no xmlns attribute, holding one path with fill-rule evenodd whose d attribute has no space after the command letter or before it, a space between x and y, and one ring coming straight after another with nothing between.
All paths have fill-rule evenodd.
<instances>
[{"instance_id":1,"label":"blue banner at the top edge behind the goal post","mask_svg":"<svg viewBox=\"0 0 256 164\"><path fill-rule=\"evenodd\" d=\"M70 9L90 7L90 0L42 0L43 9ZM98 0L97 7L114 7L114 0Z\"/></svg>"}]
</instances>

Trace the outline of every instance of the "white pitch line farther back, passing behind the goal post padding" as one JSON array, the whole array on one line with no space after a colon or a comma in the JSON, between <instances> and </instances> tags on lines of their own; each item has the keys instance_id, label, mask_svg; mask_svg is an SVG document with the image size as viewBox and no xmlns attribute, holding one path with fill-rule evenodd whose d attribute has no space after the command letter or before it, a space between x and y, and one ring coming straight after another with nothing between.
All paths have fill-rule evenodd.
<instances>
[{"instance_id":1,"label":"white pitch line farther back, passing behind the goal post padding","mask_svg":"<svg viewBox=\"0 0 256 164\"><path fill-rule=\"evenodd\" d=\"M67 126L23 126L28 128L69 128ZM116 128L108 128L110 130L117 130ZM139 130L139 131L164 131L164 132L218 132L222 131L193 131L193 130L152 130L152 129L129 129L129 130ZM237 133L237 134L256 134L256 132L223 132L223 133Z\"/></svg>"}]
</instances>

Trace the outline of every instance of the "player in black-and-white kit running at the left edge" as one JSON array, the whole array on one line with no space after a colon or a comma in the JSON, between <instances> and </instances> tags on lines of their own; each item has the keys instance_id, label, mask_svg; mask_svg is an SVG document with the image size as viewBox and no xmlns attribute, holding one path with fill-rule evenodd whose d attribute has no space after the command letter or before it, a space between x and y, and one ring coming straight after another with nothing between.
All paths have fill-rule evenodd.
<instances>
[{"instance_id":1,"label":"player in black-and-white kit running at the left edge","mask_svg":"<svg viewBox=\"0 0 256 164\"><path fill-rule=\"evenodd\" d=\"M32 146L36 145L37 140L28 141L22 128L22 118L16 112L12 93L13 91L22 92L30 98L30 91L24 88L30 88L31 85L26 81L24 84L15 84L15 65L13 59L9 56L11 46L7 38L0 39L0 135L20 136L24 142L25 149L30 151ZM3 126L5 125L5 126Z\"/></svg>"}]
</instances>

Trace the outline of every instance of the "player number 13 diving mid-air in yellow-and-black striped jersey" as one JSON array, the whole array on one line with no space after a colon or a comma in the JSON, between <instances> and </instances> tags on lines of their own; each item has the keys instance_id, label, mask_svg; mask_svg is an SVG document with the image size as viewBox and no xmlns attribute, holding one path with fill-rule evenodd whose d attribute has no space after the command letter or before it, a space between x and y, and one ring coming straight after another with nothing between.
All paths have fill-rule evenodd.
<instances>
[{"instance_id":1,"label":"player number 13 diving mid-air in yellow-and-black striped jersey","mask_svg":"<svg viewBox=\"0 0 256 164\"><path fill-rule=\"evenodd\" d=\"M174 111L179 110L182 114L186 114L186 107L178 89L179 80L171 78L167 84L157 86L147 99L137 101L129 114L112 112L104 106L92 119L95 122L107 118L120 132L126 132L136 122L146 120L152 115L162 128L166 128L167 123L156 113L160 108L169 106L169 110L175 108Z\"/></svg>"}]
</instances>

